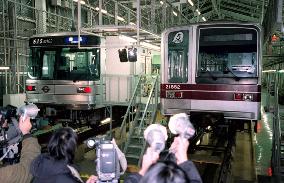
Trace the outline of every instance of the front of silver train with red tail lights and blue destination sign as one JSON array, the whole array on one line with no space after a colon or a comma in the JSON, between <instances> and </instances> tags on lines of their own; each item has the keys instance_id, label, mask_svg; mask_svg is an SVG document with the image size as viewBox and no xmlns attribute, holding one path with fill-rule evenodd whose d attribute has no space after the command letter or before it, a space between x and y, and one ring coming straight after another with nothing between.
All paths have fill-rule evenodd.
<instances>
[{"instance_id":1,"label":"front of silver train with red tail lights and blue destination sign","mask_svg":"<svg viewBox=\"0 0 284 183\"><path fill-rule=\"evenodd\" d=\"M78 48L78 42L82 48ZM87 110L96 105L100 37L77 32L30 38L26 96L39 106Z\"/></svg>"}]
</instances>

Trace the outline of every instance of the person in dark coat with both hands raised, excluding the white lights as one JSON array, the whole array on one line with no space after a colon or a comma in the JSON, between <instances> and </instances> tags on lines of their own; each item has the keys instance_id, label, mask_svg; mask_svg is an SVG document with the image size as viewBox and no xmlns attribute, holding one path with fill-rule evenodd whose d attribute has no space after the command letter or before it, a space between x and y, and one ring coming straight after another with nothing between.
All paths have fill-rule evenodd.
<instances>
[{"instance_id":1,"label":"person in dark coat with both hands raised, excluding the white lights","mask_svg":"<svg viewBox=\"0 0 284 183\"><path fill-rule=\"evenodd\" d=\"M124 183L202 183L197 168L192 161L188 160L188 146L187 140L175 137L170 152L174 154L176 162L158 161L159 154L149 147L143 156L140 171L130 174Z\"/></svg>"}]
</instances>

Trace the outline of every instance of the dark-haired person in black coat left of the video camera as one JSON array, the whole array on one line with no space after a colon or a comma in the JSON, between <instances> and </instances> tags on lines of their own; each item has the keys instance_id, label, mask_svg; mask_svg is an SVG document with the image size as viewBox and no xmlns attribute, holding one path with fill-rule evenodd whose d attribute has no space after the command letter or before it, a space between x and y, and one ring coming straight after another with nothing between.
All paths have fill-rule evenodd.
<instances>
[{"instance_id":1,"label":"dark-haired person in black coat left of the video camera","mask_svg":"<svg viewBox=\"0 0 284 183\"><path fill-rule=\"evenodd\" d=\"M31 164L33 183L82 183L72 166L77 146L77 135L71 128L60 128L48 144L48 153L39 155ZM96 182L91 176L87 183Z\"/></svg>"}]
</instances>

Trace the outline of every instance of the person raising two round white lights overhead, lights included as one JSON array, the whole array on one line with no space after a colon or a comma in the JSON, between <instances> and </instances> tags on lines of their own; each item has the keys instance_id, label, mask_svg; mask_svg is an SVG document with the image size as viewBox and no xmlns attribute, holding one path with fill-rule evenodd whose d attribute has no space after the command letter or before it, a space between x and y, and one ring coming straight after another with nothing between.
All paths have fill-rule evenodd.
<instances>
[{"instance_id":1,"label":"person raising two round white lights overhead, lights included","mask_svg":"<svg viewBox=\"0 0 284 183\"><path fill-rule=\"evenodd\" d=\"M144 138L149 144L143 156L139 173L128 176L125 183L137 182L191 182L202 183L201 177L192 161L188 160L189 139L195 134L187 114L172 116L169 121L172 134L178 135L172 142L167 158L160 158L165 147L167 130L159 124L151 124L144 131ZM162 159L162 161L158 161ZM166 159L166 160L163 160Z\"/></svg>"}]
</instances>

